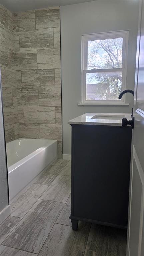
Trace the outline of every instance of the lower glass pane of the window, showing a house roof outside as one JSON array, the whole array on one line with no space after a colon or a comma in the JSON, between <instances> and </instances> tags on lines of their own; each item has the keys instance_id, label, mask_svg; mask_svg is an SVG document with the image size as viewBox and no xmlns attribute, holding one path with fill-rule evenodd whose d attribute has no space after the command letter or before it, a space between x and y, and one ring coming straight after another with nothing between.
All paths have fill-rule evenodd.
<instances>
[{"instance_id":1,"label":"lower glass pane of the window, showing a house roof outside","mask_svg":"<svg viewBox=\"0 0 144 256\"><path fill-rule=\"evenodd\" d=\"M122 72L98 72L86 75L86 100L118 100Z\"/></svg>"}]
</instances>

